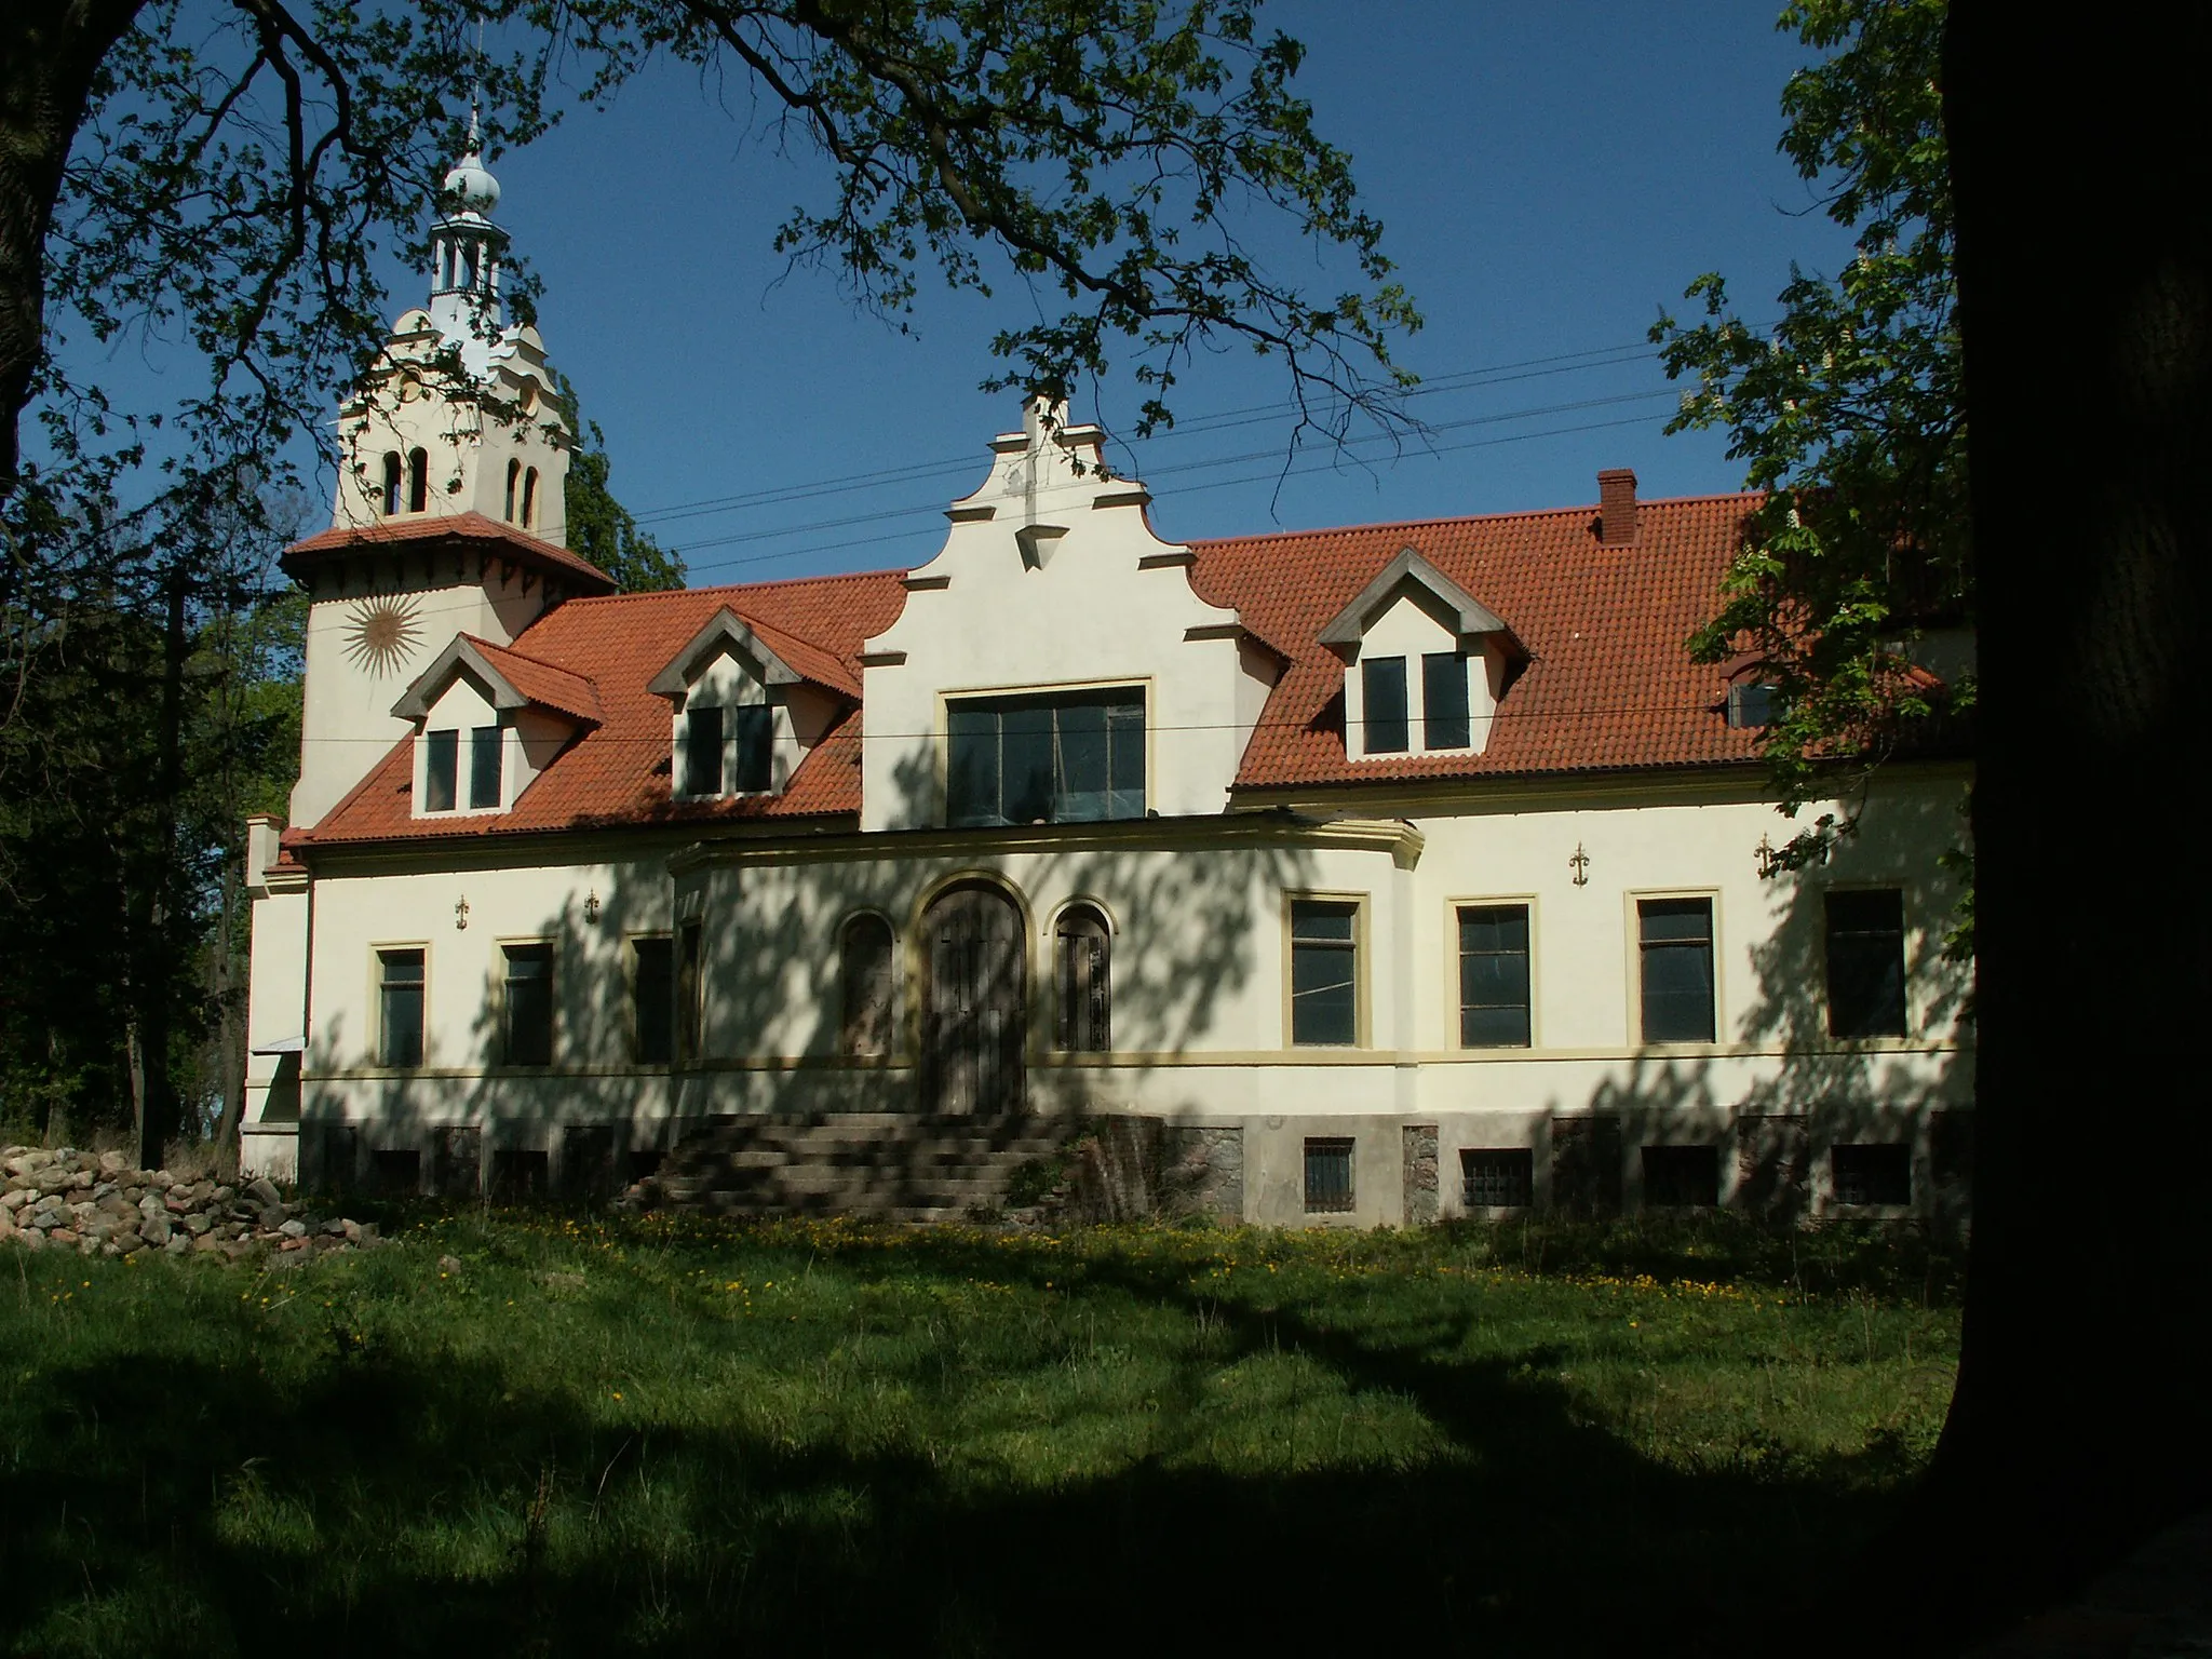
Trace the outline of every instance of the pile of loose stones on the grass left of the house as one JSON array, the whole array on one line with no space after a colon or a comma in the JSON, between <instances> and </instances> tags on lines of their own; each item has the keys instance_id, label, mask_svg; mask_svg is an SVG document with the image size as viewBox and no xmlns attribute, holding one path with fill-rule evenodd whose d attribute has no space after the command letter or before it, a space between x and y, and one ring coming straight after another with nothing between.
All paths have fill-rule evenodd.
<instances>
[{"instance_id":1,"label":"pile of loose stones on the grass left of the house","mask_svg":"<svg viewBox=\"0 0 2212 1659\"><path fill-rule=\"evenodd\" d=\"M307 1261L330 1250L369 1250L374 1221L314 1217L263 1179L219 1186L168 1170L133 1170L124 1152L0 1148L0 1243L86 1256L212 1254L221 1261Z\"/></svg>"}]
</instances>

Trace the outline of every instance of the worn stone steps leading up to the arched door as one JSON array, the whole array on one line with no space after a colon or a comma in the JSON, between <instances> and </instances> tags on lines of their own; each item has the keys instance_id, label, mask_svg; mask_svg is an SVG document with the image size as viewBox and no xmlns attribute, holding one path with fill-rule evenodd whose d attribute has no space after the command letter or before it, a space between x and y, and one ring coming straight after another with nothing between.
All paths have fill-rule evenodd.
<instances>
[{"instance_id":1,"label":"worn stone steps leading up to the arched door","mask_svg":"<svg viewBox=\"0 0 2212 1659\"><path fill-rule=\"evenodd\" d=\"M677 1141L626 1203L726 1217L962 1221L1002 1208L1015 1170L1055 1157L1077 1130L1046 1117L719 1119Z\"/></svg>"}]
</instances>

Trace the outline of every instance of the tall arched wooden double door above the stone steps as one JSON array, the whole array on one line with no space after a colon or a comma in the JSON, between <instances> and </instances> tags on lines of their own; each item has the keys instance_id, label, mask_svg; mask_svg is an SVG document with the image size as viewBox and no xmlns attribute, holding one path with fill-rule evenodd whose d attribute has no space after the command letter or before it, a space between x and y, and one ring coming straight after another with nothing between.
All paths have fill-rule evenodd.
<instances>
[{"instance_id":1,"label":"tall arched wooden double door above the stone steps","mask_svg":"<svg viewBox=\"0 0 2212 1659\"><path fill-rule=\"evenodd\" d=\"M922 1110L1000 1117L1026 1104L1029 953L1022 911L989 883L922 914Z\"/></svg>"}]
</instances>

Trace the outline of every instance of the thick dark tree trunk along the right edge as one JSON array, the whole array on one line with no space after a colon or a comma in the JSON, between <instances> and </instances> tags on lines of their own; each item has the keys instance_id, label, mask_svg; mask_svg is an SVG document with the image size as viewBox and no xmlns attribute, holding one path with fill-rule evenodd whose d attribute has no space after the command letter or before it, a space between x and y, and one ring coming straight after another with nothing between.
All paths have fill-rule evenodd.
<instances>
[{"instance_id":1,"label":"thick dark tree trunk along the right edge","mask_svg":"<svg viewBox=\"0 0 2212 1659\"><path fill-rule=\"evenodd\" d=\"M1951 1632L2212 1502L2212 148L2201 9L1958 0L1980 1084L1958 1396L1920 1559ZM2194 35L2194 38L2192 38Z\"/></svg>"}]
</instances>

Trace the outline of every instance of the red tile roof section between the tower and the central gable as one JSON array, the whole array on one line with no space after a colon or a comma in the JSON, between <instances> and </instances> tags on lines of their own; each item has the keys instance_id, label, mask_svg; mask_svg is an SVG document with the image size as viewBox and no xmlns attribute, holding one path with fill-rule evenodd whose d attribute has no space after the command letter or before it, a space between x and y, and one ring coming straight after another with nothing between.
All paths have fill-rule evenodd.
<instances>
[{"instance_id":1,"label":"red tile roof section between the tower and the central gable","mask_svg":"<svg viewBox=\"0 0 2212 1659\"><path fill-rule=\"evenodd\" d=\"M524 628L504 655L586 679L602 723L580 734L509 812L416 818L409 794L414 739L405 737L314 830L288 834L285 845L327 847L602 825L856 814L860 810L858 710L814 745L783 794L675 801L668 779L668 703L648 692L646 684L668 666L668 657L686 639L728 606L796 672L858 697L860 641L896 622L907 602L902 575L902 571L869 571L730 588L619 593L555 606ZM573 679L566 686L573 690Z\"/></svg>"}]
</instances>

